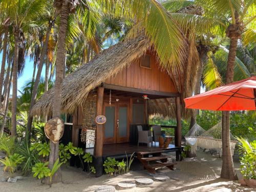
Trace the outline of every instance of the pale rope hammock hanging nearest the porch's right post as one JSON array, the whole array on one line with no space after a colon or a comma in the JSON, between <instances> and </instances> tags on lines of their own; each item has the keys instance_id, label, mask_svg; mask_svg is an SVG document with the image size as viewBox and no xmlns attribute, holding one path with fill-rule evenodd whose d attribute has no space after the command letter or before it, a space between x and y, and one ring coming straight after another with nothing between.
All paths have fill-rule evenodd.
<instances>
[{"instance_id":1,"label":"pale rope hammock hanging nearest the porch's right post","mask_svg":"<svg viewBox=\"0 0 256 192\"><path fill-rule=\"evenodd\" d=\"M185 135L185 139L187 144L191 146L190 152L191 154L196 154L197 151L197 139L200 135L202 135L205 130L197 123L191 127L189 132Z\"/></svg>"}]
</instances>

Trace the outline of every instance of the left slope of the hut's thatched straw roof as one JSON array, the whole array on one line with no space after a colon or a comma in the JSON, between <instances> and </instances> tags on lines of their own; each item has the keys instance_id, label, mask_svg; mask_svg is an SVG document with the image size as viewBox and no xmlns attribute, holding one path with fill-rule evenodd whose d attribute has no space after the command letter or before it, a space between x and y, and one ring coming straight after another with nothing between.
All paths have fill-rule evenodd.
<instances>
[{"instance_id":1,"label":"left slope of the hut's thatched straw roof","mask_svg":"<svg viewBox=\"0 0 256 192\"><path fill-rule=\"evenodd\" d=\"M91 90L105 79L115 76L132 61L145 54L150 48L148 39L141 35L126 39L102 51L86 65L68 75L63 80L61 111L73 113L86 99ZM54 88L50 89L33 106L32 115L49 115L52 111Z\"/></svg>"}]
</instances>

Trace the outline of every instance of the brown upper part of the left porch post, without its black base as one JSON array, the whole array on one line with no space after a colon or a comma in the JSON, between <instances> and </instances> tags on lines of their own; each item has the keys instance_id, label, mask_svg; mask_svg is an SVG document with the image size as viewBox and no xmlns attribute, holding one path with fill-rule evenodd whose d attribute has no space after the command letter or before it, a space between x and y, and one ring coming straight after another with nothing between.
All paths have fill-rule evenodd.
<instances>
[{"instance_id":1,"label":"brown upper part of the left porch post, without its black base","mask_svg":"<svg viewBox=\"0 0 256 192\"><path fill-rule=\"evenodd\" d=\"M96 102L96 115L103 114L103 96L104 96L104 88L99 87L97 92L97 102ZM103 125L96 124L96 140L94 146L94 156L101 157L102 149L103 149Z\"/></svg>"}]
</instances>

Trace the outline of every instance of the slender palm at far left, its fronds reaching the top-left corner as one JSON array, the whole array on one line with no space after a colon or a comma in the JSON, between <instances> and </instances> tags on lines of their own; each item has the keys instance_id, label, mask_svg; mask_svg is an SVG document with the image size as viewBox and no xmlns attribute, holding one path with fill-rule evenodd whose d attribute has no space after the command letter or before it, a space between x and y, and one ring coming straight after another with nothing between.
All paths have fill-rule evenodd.
<instances>
[{"instance_id":1,"label":"slender palm at far left, its fronds reaching the top-left corner","mask_svg":"<svg viewBox=\"0 0 256 192\"><path fill-rule=\"evenodd\" d=\"M18 56L21 40L24 40L24 31L31 30L32 24L44 10L45 0L3 0L2 5L7 7L8 16L13 26L14 35L14 62L13 62L13 84L12 84L12 129L11 134L16 136L16 108L17 108L17 74L18 74Z\"/></svg>"}]
</instances>

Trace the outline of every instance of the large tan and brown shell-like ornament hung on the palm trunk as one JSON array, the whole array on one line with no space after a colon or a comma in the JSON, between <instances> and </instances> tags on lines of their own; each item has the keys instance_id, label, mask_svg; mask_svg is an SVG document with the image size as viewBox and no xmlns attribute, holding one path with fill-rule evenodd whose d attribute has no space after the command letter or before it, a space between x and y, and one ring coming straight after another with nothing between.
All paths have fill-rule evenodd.
<instances>
[{"instance_id":1,"label":"large tan and brown shell-like ornament hung on the palm trunk","mask_svg":"<svg viewBox=\"0 0 256 192\"><path fill-rule=\"evenodd\" d=\"M53 143L57 143L64 133L64 121L59 117L54 117L46 122L45 134Z\"/></svg>"}]
</instances>

